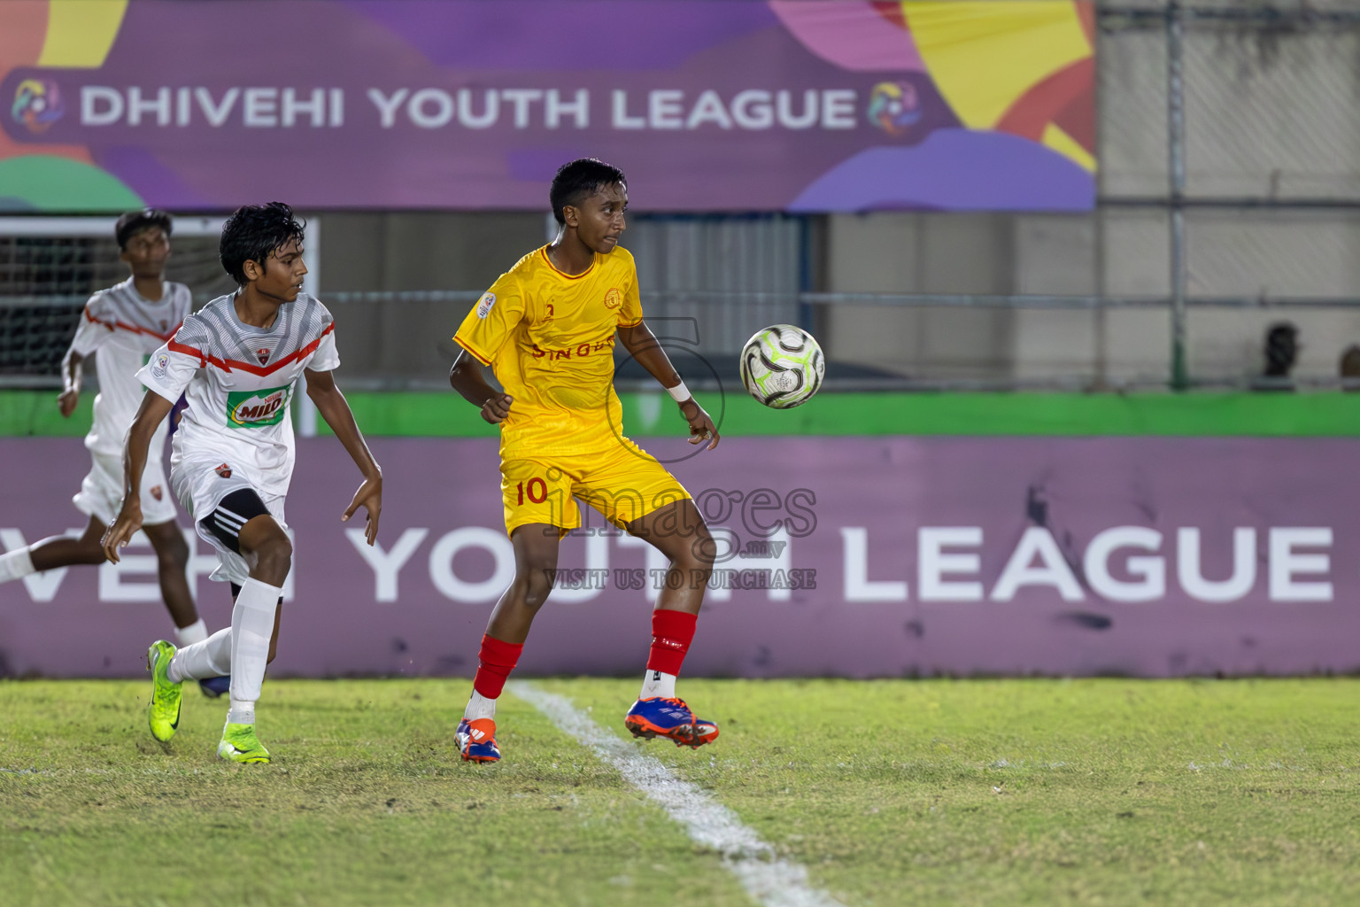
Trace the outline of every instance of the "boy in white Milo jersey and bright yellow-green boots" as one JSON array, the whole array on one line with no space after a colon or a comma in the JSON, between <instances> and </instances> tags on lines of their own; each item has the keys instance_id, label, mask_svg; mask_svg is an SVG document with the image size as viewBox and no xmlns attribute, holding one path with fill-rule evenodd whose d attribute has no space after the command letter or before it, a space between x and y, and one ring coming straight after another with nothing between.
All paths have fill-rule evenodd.
<instances>
[{"instance_id":1,"label":"boy in white Milo jersey and bright yellow-green boots","mask_svg":"<svg viewBox=\"0 0 1360 907\"><path fill-rule=\"evenodd\" d=\"M156 640L147 651L152 672L151 734L170 740L180 725L181 684L231 674L231 706L218 755L230 761L269 761L254 729L265 665L273 661L283 582L292 563L284 495L292 477L288 404L306 371L307 396L363 473L344 511L367 510L367 540L378 534L382 470L330 371L340 364L335 321L302 291L303 227L288 205L238 208L222 228L222 267L239 290L185 318L174 337L137 373L152 393L143 401L124 447L125 496L103 537L109 560L141 525L140 488L155 427L185 393L189 407L175 431L170 487L193 515L199 534L218 549L212 578L235 593L231 627L177 650Z\"/></svg>"}]
</instances>

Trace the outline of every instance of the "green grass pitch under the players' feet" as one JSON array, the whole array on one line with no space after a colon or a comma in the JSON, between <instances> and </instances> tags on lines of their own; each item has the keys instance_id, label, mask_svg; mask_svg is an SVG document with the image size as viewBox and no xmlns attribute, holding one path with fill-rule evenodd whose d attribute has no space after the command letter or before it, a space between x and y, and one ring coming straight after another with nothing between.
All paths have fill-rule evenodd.
<instances>
[{"instance_id":1,"label":"green grass pitch under the players' feet","mask_svg":"<svg viewBox=\"0 0 1360 907\"><path fill-rule=\"evenodd\" d=\"M722 737L636 744L860 904L1360 902L1360 681L696 681ZM548 680L620 734L634 680ZM268 681L271 766L224 704L150 681L0 681L5 904L749 904L718 854L506 695L457 759L465 680Z\"/></svg>"}]
</instances>

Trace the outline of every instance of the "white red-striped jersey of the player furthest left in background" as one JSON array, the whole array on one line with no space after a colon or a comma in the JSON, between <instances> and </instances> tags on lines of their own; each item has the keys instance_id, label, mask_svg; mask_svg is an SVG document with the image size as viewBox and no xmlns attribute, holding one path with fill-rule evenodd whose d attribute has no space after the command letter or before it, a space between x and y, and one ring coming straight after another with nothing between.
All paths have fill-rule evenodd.
<instances>
[{"instance_id":1,"label":"white red-striped jersey of the player furthest left in background","mask_svg":"<svg viewBox=\"0 0 1360 907\"><path fill-rule=\"evenodd\" d=\"M151 302L132 286L132 277L90 296L71 348L82 356L95 355L99 394L94 398L94 422L86 447L118 456L122 438L141 405L137 369L165 344L189 314L192 294L182 283L166 281L160 299ZM155 457L165 449L166 427L151 441Z\"/></svg>"}]
</instances>

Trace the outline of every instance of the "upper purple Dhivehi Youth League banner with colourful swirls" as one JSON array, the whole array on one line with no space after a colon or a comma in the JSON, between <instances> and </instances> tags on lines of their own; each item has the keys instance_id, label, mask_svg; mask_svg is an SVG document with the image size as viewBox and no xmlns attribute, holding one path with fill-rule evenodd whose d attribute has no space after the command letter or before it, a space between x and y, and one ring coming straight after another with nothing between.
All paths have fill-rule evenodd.
<instances>
[{"instance_id":1,"label":"upper purple Dhivehi Youth League banner with colourful swirls","mask_svg":"<svg viewBox=\"0 0 1360 907\"><path fill-rule=\"evenodd\" d=\"M579 156L650 211L1095 201L1088 0L7 0L0 33L0 209L543 209Z\"/></svg>"}]
</instances>

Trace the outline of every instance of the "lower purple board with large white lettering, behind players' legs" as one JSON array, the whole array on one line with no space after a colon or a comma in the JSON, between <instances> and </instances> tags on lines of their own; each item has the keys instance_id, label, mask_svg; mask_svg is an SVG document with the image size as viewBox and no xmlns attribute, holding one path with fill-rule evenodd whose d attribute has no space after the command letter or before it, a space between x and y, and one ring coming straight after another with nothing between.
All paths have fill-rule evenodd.
<instances>
[{"instance_id":1,"label":"lower purple board with large white lettering, behind players' legs","mask_svg":"<svg viewBox=\"0 0 1360 907\"><path fill-rule=\"evenodd\" d=\"M1360 668L1360 447L1342 439L728 438L643 442L719 541L690 676L1244 674ZM487 439L299 442L276 674L465 674L513 568ZM3 439L0 544L78 528L73 439ZM196 541L211 628L227 590ZM133 676L170 632L148 548L0 586L0 670ZM632 674L664 568L598 518L563 543L521 669Z\"/></svg>"}]
</instances>

